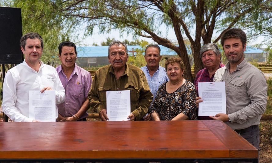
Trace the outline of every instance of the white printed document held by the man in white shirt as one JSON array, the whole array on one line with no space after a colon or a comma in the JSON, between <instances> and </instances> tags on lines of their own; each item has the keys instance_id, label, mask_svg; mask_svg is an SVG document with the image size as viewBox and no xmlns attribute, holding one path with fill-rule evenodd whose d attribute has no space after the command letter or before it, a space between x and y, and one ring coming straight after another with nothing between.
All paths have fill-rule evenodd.
<instances>
[{"instance_id":1,"label":"white printed document held by the man in white shirt","mask_svg":"<svg viewBox=\"0 0 272 163\"><path fill-rule=\"evenodd\" d=\"M55 122L56 92L29 91L28 116L42 122Z\"/></svg>"}]
</instances>

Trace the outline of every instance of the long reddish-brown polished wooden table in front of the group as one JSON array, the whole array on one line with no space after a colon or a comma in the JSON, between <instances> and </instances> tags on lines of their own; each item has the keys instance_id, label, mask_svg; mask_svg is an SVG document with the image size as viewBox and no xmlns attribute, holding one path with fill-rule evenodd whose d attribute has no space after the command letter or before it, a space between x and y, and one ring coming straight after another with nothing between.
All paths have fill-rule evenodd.
<instances>
[{"instance_id":1,"label":"long reddish-brown polished wooden table in front of the group","mask_svg":"<svg viewBox=\"0 0 272 163\"><path fill-rule=\"evenodd\" d=\"M0 128L1 162L258 161L258 150L219 120L9 122Z\"/></svg>"}]
</instances>

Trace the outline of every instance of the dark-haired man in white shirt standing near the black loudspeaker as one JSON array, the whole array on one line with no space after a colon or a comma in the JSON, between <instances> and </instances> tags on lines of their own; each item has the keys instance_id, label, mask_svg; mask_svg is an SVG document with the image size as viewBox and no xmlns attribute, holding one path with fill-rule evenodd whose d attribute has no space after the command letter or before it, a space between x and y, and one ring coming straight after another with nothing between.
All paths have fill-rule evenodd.
<instances>
[{"instance_id":1,"label":"dark-haired man in white shirt standing near the black loudspeaker","mask_svg":"<svg viewBox=\"0 0 272 163\"><path fill-rule=\"evenodd\" d=\"M65 90L57 71L43 64L43 40L38 33L27 33L21 40L24 62L10 69L3 83L3 112L14 122L37 122L28 117L29 91L56 91L56 105L64 102ZM56 106L56 118L58 109Z\"/></svg>"}]
</instances>

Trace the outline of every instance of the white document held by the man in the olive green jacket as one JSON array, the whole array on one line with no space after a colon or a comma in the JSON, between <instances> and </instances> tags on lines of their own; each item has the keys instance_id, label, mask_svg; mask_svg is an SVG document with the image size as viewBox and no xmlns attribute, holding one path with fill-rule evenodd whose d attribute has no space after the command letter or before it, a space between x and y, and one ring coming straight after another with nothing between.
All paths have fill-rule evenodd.
<instances>
[{"instance_id":1,"label":"white document held by the man in the olive green jacket","mask_svg":"<svg viewBox=\"0 0 272 163\"><path fill-rule=\"evenodd\" d=\"M107 91L107 116L109 121L130 120L130 91Z\"/></svg>"}]
</instances>

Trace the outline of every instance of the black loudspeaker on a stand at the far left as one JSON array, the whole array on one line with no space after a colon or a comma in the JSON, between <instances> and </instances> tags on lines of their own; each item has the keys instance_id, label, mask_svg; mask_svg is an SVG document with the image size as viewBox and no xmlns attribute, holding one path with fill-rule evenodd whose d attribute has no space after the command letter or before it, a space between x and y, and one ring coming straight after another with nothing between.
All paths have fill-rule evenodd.
<instances>
[{"instance_id":1,"label":"black loudspeaker on a stand at the far left","mask_svg":"<svg viewBox=\"0 0 272 163\"><path fill-rule=\"evenodd\" d=\"M0 7L0 64L24 61L20 48L22 33L21 9Z\"/></svg>"}]
</instances>

